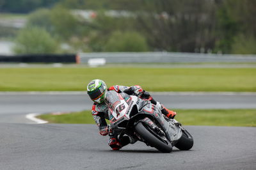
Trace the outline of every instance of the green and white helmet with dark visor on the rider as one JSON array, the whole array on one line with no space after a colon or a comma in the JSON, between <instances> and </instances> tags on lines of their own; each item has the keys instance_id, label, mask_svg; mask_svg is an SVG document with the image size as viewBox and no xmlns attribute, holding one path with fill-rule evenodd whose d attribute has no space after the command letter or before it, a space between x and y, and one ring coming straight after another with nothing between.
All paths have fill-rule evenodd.
<instances>
[{"instance_id":1,"label":"green and white helmet with dark visor on the rider","mask_svg":"<svg viewBox=\"0 0 256 170\"><path fill-rule=\"evenodd\" d=\"M100 79L95 79L89 82L87 86L87 93L93 102L101 104L106 98L108 89L106 83Z\"/></svg>"}]
</instances>

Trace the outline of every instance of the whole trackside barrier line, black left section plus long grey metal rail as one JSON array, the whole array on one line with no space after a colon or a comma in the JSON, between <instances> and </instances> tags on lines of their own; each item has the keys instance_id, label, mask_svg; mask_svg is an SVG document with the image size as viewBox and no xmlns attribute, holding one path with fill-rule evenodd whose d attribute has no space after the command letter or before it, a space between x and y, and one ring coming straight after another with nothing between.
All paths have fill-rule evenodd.
<instances>
[{"instance_id":1,"label":"whole trackside barrier line, black left section plus long grey metal rail","mask_svg":"<svg viewBox=\"0 0 256 170\"><path fill-rule=\"evenodd\" d=\"M79 54L24 54L0 56L4 63L251 63L256 55L189 52L83 52Z\"/></svg>"}]
</instances>

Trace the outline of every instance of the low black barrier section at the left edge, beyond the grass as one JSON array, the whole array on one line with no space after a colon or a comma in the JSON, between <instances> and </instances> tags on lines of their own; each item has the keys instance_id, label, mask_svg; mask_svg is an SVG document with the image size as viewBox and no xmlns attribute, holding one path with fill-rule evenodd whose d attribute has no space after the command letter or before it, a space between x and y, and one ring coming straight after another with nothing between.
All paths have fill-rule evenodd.
<instances>
[{"instance_id":1,"label":"low black barrier section at the left edge, beyond the grass","mask_svg":"<svg viewBox=\"0 0 256 170\"><path fill-rule=\"evenodd\" d=\"M26 54L0 56L4 63L76 63L76 54Z\"/></svg>"}]
</instances>

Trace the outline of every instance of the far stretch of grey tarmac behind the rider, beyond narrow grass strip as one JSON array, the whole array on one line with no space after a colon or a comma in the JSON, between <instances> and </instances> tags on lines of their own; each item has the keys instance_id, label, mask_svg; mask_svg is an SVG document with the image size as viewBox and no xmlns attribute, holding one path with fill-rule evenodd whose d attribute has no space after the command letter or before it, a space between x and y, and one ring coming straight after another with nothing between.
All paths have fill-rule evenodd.
<instances>
[{"instance_id":1,"label":"far stretch of grey tarmac behind the rider, beyond narrow grass strip","mask_svg":"<svg viewBox=\"0 0 256 170\"><path fill-rule=\"evenodd\" d=\"M256 108L256 93L153 93L172 109ZM31 112L68 112L92 109L86 92L78 93L0 93L0 122L32 123Z\"/></svg>"}]
</instances>

